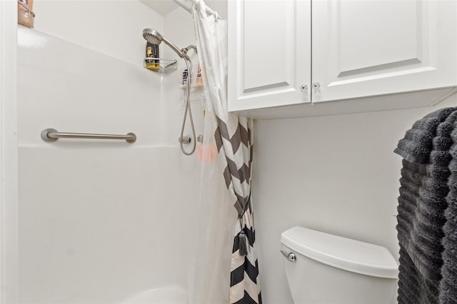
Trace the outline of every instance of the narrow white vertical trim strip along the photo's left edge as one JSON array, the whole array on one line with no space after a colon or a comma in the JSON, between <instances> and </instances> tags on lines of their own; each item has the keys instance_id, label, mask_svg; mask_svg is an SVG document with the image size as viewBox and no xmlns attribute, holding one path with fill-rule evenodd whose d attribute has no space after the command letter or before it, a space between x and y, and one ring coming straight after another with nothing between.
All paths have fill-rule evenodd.
<instances>
[{"instance_id":1,"label":"narrow white vertical trim strip along the photo's left edge","mask_svg":"<svg viewBox=\"0 0 457 304\"><path fill-rule=\"evenodd\" d=\"M0 1L0 302L17 295L17 4Z\"/></svg>"}]
</instances>

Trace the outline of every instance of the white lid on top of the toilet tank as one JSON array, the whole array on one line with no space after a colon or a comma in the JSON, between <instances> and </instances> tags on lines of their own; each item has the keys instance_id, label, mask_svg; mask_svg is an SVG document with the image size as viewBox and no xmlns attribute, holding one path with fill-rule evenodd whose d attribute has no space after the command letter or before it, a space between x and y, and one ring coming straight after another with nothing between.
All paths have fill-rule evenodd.
<instances>
[{"instance_id":1,"label":"white lid on top of the toilet tank","mask_svg":"<svg viewBox=\"0 0 457 304\"><path fill-rule=\"evenodd\" d=\"M336 268L379 278L398 277L395 258L382 246L303 227L284 231L281 243L296 253Z\"/></svg>"}]
</instances>

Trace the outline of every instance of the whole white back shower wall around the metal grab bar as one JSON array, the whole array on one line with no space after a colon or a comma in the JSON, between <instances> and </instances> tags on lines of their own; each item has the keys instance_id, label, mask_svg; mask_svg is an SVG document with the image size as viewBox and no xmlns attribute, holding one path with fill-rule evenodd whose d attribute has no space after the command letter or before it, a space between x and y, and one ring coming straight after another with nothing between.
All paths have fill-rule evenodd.
<instances>
[{"instance_id":1,"label":"whole white back shower wall around the metal grab bar","mask_svg":"<svg viewBox=\"0 0 457 304\"><path fill-rule=\"evenodd\" d=\"M186 286L199 163L177 146L180 72L142 67L142 30L166 35L173 13L136 0L34 11L35 29L19 29L19 303L120 303ZM46 143L44 128L138 139Z\"/></svg>"}]
</instances>

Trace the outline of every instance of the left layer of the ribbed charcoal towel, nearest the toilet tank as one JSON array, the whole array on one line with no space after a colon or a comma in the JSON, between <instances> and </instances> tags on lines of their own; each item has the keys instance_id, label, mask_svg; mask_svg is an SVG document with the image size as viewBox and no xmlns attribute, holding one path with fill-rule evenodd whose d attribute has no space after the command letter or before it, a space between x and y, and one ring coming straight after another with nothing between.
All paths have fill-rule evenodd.
<instances>
[{"instance_id":1,"label":"left layer of the ribbed charcoal towel, nearest the toilet tank","mask_svg":"<svg viewBox=\"0 0 457 304\"><path fill-rule=\"evenodd\" d=\"M455 110L443 108L416 121L395 150L404 158L397 217L398 303L438 303Z\"/></svg>"}]
</instances>

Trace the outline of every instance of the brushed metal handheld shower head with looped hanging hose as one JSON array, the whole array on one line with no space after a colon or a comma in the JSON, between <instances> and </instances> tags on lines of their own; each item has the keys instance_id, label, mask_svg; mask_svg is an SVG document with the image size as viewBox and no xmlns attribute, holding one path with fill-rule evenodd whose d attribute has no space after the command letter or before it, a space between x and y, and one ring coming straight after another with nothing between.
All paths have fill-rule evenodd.
<instances>
[{"instance_id":1,"label":"brushed metal handheld shower head with looped hanging hose","mask_svg":"<svg viewBox=\"0 0 457 304\"><path fill-rule=\"evenodd\" d=\"M164 36L159 34L159 32L156 31L155 29L144 29L143 30L143 38L146 39L146 41L148 41L150 44L155 44L157 46L159 44L161 44L162 41L164 41L164 43L167 46L169 46L173 51L175 51L176 54L178 54L179 57L184 59L184 61L186 62L187 70L189 71L189 75L191 74L192 61L189 58L189 56L187 55L187 52L189 51L189 49L194 49L194 51L197 52L196 46L192 46L191 45L191 46L187 46L184 49L178 49L178 47L175 46L174 44L172 44L171 41L169 41L169 39L166 39ZM182 124L182 127L181 127L181 136L179 137L179 144L181 146L181 151L184 154L188 155L188 156L191 155L192 153L194 153L195 148L196 148L196 136L195 136L195 128L194 128L194 119L192 118L190 94L191 94L190 81L187 81L187 84L186 84L186 109L184 110L184 119L183 119L183 124ZM191 142L192 142L193 146L192 146L192 150L190 152L187 152L186 150L184 150L184 146L183 146L183 143L184 143L184 140L183 140L183 138L184 138L184 126L186 124L187 113L189 113L189 120L191 121L191 129L192 129Z\"/></svg>"}]
</instances>

